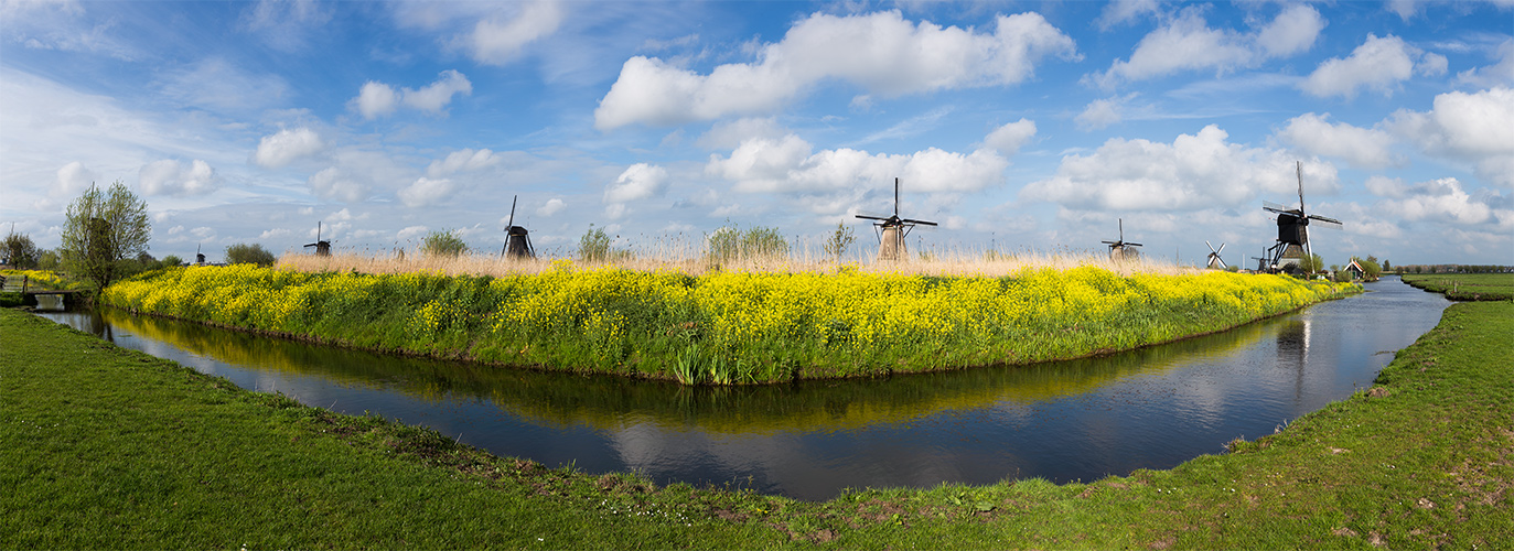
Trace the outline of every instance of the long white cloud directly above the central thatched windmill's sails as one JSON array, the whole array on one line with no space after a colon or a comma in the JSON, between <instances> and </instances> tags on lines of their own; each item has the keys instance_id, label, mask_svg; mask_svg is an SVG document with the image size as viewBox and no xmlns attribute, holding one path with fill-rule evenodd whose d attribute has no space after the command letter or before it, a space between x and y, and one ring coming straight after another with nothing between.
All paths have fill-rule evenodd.
<instances>
[{"instance_id":1,"label":"long white cloud directly above the central thatched windmill's sails","mask_svg":"<svg viewBox=\"0 0 1514 551\"><path fill-rule=\"evenodd\" d=\"M970 192L1002 183L1007 167L1008 160L992 148L969 154L934 147L913 154L871 154L852 148L812 153L808 142L787 135L749 139L730 157L710 156L704 171L734 182L743 192L852 192L877 189L880 182L895 177L910 182L913 191Z\"/></svg>"}]
</instances>

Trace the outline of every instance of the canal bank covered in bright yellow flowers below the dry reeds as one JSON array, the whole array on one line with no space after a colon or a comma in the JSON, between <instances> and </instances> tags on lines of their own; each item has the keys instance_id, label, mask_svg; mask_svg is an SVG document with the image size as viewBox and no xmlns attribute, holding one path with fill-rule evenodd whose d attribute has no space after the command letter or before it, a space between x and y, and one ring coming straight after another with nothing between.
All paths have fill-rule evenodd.
<instances>
[{"instance_id":1,"label":"canal bank covered in bright yellow flowers below the dry reeds","mask_svg":"<svg viewBox=\"0 0 1514 551\"><path fill-rule=\"evenodd\" d=\"M176 268L112 285L101 303L356 348L742 384L1083 357L1360 289L1096 266L972 277L554 265L501 277Z\"/></svg>"}]
</instances>

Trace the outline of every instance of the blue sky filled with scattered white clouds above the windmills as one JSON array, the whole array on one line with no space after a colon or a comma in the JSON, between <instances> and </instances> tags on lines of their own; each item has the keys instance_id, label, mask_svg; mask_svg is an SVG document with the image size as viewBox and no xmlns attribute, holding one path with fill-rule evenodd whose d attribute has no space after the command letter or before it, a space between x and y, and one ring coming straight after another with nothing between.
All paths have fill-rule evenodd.
<instances>
[{"instance_id":1,"label":"blue sky filled with scattered white clouds above the windmills","mask_svg":"<svg viewBox=\"0 0 1514 551\"><path fill-rule=\"evenodd\" d=\"M1254 266L1263 201L1326 265L1514 265L1514 0L0 0L0 232L61 242L91 183L150 253L568 256L857 213L911 250ZM304 250L310 251L310 250Z\"/></svg>"}]
</instances>

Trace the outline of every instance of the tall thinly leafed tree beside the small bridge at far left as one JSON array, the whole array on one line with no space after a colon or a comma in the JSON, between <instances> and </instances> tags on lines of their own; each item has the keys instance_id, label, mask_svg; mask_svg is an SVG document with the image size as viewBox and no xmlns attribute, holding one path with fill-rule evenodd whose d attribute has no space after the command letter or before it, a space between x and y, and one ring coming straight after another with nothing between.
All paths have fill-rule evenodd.
<instances>
[{"instance_id":1,"label":"tall thinly leafed tree beside the small bridge at far left","mask_svg":"<svg viewBox=\"0 0 1514 551\"><path fill-rule=\"evenodd\" d=\"M147 250L153 224L147 201L126 189L121 180L101 191L89 185L67 212L64 223L64 266L104 289L118 277L120 262Z\"/></svg>"}]
</instances>

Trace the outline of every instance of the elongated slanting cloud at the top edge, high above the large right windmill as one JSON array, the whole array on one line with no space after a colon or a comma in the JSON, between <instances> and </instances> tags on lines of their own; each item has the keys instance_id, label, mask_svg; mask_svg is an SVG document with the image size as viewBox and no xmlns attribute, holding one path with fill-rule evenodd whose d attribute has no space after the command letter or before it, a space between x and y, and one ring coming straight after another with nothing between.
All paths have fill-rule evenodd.
<instances>
[{"instance_id":1,"label":"elongated slanting cloud at the top edge, high above the large right windmill","mask_svg":"<svg viewBox=\"0 0 1514 551\"><path fill-rule=\"evenodd\" d=\"M1167 76L1178 71L1252 67L1269 58L1290 56L1314 45L1325 20L1310 6L1290 6L1254 33L1211 29L1202 11L1188 8L1172 21L1142 38L1129 61L1116 59L1089 79L1108 89L1120 82Z\"/></svg>"}]
</instances>

